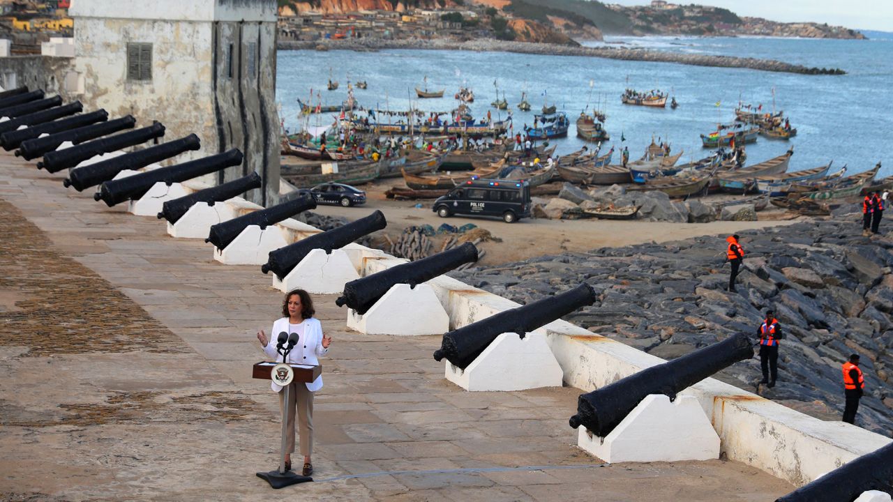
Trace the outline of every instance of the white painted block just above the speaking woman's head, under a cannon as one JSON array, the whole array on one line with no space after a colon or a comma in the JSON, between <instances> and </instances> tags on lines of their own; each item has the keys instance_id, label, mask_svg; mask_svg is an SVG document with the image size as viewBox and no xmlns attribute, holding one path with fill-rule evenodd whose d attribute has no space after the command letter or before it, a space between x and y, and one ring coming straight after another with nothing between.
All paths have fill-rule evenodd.
<instances>
[{"instance_id":1,"label":"white painted block just above the speaking woman's head, under a cannon","mask_svg":"<svg viewBox=\"0 0 893 502\"><path fill-rule=\"evenodd\" d=\"M313 249L282 280L274 273L273 288L283 293L300 288L317 295L334 295L343 291L347 282L359 278L350 257L341 249L332 250L331 255Z\"/></svg>"}]
</instances>

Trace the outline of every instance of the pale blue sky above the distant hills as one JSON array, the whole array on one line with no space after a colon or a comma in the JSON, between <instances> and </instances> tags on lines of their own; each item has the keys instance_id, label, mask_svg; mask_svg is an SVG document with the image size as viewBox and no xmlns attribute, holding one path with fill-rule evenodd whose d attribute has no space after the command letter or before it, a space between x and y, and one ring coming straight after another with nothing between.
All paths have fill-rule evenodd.
<instances>
[{"instance_id":1,"label":"pale blue sky above the distant hills","mask_svg":"<svg viewBox=\"0 0 893 502\"><path fill-rule=\"evenodd\" d=\"M893 31L893 0L668 0L673 4L724 7L739 16L770 21L827 22L851 29ZM605 4L645 5L648 0L603 0Z\"/></svg>"}]
</instances>

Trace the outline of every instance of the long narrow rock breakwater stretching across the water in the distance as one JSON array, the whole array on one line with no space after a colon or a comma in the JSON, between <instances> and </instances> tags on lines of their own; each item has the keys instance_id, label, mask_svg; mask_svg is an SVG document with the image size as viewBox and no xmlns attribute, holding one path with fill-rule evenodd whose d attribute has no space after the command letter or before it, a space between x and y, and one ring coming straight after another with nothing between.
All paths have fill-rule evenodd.
<instances>
[{"instance_id":1,"label":"long narrow rock breakwater stretching across the water in the distance","mask_svg":"<svg viewBox=\"0 0 893 502\"><path fill-rule=\"evenodd\" d=\"M772 59L756 59L752 57L733 57L708 54L679 54L649 49L631 49L624 47L584 47L562 46L556 44L536 44L530 42L511 42L493 38L456 41L446 38L433 40L410 38L405 40L384 40L380 38L353 38L349 40L323 39L316 41L280 40L279 48L283 50L352 50L377 51L382 49L430 49L459 50L473 52L511 52L522 54L547 55L580 55L620 59L625 61L650 61L658 63L680 63L695 66L715 66L720 68L747 68L760 71L779 71L805 75L843 75L846 71L839 68L807 67L802 64L783 63Z\"/></svg>"}]
</instances>

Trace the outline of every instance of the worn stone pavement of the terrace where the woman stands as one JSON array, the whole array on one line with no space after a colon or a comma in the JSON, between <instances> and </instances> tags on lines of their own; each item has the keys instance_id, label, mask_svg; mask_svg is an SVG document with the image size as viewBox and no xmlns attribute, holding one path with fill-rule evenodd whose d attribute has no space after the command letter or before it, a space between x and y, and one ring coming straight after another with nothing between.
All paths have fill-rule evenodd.
<instances>
[{"instance_id":1,"label":"worn stone pavement of the terrace where the woman stands","mask_svg":"<svg viewBox=\"0 0 893 502\"><path fill-rule=\"evenodd\" d=\"M575 447L579 389L468 393L439 337L332 339L314 480L281 491L279 407L255 339L282 295L255 266L0 156L2 500L772 500L736 462L613 464ZM324 210L323 210L324 211ZM296 459L298 457L296 456Z\"/></svg>"}]
</instances>

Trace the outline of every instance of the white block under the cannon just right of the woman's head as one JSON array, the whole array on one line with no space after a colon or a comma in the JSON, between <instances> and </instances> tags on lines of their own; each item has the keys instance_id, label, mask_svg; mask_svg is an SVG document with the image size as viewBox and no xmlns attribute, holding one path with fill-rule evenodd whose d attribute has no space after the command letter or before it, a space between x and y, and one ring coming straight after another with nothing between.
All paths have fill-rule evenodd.
<instances>
[{"instance_id":1,"label":"white block under the cannon just right of the woman's head","mask_svg":"<svg viewBox=\"0 0 893 502\"><path fill-rule=\"evenodd\" d=\"M429 284L395 284L366 314L349 309L347 328L366 335L441 335L449 330L449 315Z\"/></svg>"}]
</instances>

